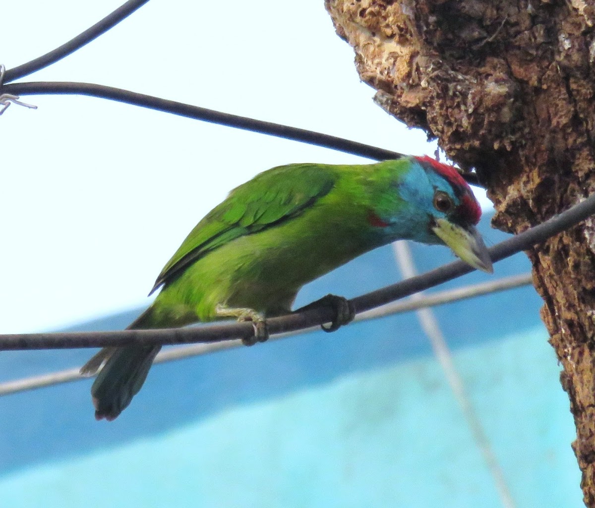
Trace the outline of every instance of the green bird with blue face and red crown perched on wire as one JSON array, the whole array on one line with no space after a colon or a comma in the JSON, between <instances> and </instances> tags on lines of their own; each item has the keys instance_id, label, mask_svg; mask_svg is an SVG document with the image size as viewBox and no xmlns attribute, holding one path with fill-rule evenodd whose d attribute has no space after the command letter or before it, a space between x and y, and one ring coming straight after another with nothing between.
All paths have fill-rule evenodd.
<instances>
[{"instance_id":1,"label":"green bird with blue face and red crown perched on wire","mask_svg":"<svg viewBox=\"0 0 595 508\"><path fill-rule=\"evenodd\" d=\"M299 289L360 254L397 239L442 244L492 272L475 229L481 208L452 166L430 157L355 166L290 164L230 192L190 232L159 274L154 303L128 328L174 328L222 317L251 320L291 312ZM149 293L149 294L151 294ZM352 319L334 297L337 319ZM331 298L332 300L332 298ZM96 419L115 419L142 387L160 346L104 348L83 367L93 375Z\"/></svg>"}]
</instances>

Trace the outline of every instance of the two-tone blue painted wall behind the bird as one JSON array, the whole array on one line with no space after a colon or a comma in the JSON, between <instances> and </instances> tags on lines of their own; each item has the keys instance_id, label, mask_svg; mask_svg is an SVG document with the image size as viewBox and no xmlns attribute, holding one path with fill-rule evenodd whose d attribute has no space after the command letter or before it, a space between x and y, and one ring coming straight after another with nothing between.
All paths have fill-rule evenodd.
<instances>
[{"instance_id":1,"label":"two-tone blue painted wall behind the bird","mask_svg":"<svg viewBox=\"0 0 595 508\"><path fill-rule=\"evenodd\" d=\"M449 258L414 253L423 270ZM526 270L518 256L496 276ZM305 288L298 305L398 279L380 249ZM516 506L580 507L574 425L540 306L523 288L435 312ZM122 328L134 314L77 328ZM2 353L0 381L88 356ZM111 423L93 419L89 386L0 397L0 508L501 506L415 314L155 366Z\"/></svg>"}]
</instances>

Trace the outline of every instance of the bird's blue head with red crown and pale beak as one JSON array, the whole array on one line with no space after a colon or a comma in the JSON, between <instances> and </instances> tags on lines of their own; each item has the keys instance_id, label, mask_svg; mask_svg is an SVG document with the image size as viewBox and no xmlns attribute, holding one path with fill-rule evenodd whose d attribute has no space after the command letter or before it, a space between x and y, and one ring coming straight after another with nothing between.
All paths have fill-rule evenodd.
<instances>
[{"instance_id":1,"label":"bird's blue head with red crown and pale beak","mask_svg":"<svg viewBox=\"0 0 595 508\"><path fill-rule=\"evenodd\" d=\"M399 183L400 198L408 204L408 219L417 224L411 238L443 244L472 267L492 273L486 245L475 225L480 204L461 174L430 157L411 157L410 170Z\"/></svg>"}]
</instances>

